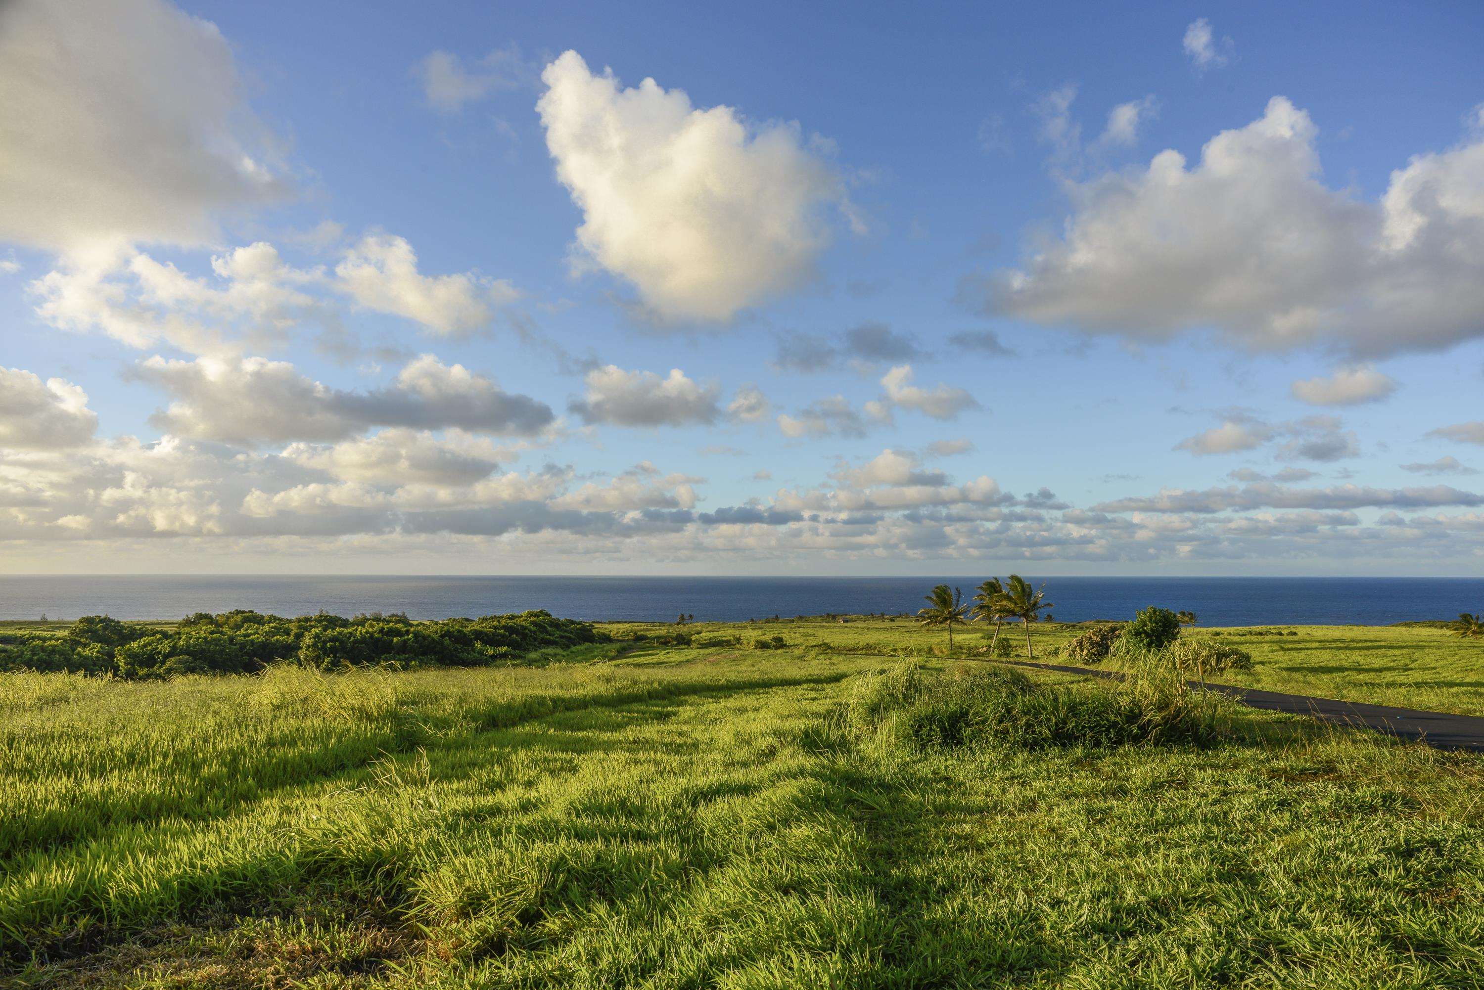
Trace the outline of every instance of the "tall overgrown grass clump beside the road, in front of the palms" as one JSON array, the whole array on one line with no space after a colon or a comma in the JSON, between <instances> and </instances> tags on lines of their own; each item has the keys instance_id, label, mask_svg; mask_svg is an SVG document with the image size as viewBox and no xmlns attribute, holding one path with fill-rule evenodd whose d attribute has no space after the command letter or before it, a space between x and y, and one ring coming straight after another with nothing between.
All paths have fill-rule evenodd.
<instances>
[{"instance_id":1,"label":"tall overgrown grass clump beside the road, in front of the palms","mask_svg":"<svg viewBox=\"0 0 1484 990\"><path fill-rule=\"evenodd\" d=\"M844 720L883 750L1214 745L1230 736L1229 704L1169 677L1058 686L1020 671L935 674L902 662L861 674Z\"/></svg>"}]
</instances>

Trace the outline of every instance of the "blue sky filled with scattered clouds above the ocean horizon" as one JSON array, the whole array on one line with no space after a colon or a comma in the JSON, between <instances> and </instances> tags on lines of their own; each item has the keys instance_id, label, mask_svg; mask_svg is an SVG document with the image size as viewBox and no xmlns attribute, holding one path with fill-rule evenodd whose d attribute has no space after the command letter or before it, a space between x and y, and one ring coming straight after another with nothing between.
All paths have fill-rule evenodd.
<instances>
[{"instance_id":1,"label":"blue sky filled with scattered clouds above the ocean horizon","mask_svg":"<svg viewBox=\"0 0 1484 990\"><path fill-rule=\"evenodd\" d=\"M1484 9L1343 13L19 0L0 567L1484 573Z\"/></svg>"}]
</instances>

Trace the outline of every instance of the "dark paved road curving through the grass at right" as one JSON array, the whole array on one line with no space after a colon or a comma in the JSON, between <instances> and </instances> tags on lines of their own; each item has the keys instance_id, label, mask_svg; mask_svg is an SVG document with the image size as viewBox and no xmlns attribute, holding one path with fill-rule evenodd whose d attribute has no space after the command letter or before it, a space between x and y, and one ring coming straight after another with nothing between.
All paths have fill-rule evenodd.
<instances>
[{"instance_id":1,"label":"dark paved road curving through the grass at right","mask_svg":"<svg viewBox=\"0 0 1484 990\"><path fill-rule=\"evenodd\" d=\"M1064 666L1060 663L1033 663L1030 660L1005 660L1020 666L1039 666L1043 671L1064 674L1091 674L1092 677L1122 678L1117 671L1098 671L1088 666ZM1367 705L1358 701L1337 698L1309 698L1307 695L1279 695L1278 692L1236 687L1235 684L1202 684L1189 681L1192 687L1221 692L1244 705L1267 711L1285 711L1294 715L1313 715L1346 726L1364 726L1402 739L1420 739L1439 750L1474 750L1484 753L1484 718L1478 715L1453 715L1444 711L1419 711L1416 708L1392 708L1391 705Z\"/></svg>"}]
</instances>

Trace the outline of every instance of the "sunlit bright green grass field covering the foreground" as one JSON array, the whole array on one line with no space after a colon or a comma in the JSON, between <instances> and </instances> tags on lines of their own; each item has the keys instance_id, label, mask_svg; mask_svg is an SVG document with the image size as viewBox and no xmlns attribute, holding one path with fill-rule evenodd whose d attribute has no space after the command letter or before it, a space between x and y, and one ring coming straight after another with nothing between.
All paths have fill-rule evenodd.
<instances>
[{"instance_id":1,"label":"sunlit bright green grass field covering the foreground","mask_svg":"<svg viewBox=\"0 0 1484 990\"><path fill-rule=\"evenodd\" d=\"M1445 634L1297 631L1224 678L1480 709ZM928 659L919 701L870 674L941 632L690 632L540 669L0 675L0 986L1484 981L1478 754L1218 699L1204 742L959 739L950 702L1005 668ZM1031 677L1094 718L1123 690Z\"/></svg>"}]
</instances>

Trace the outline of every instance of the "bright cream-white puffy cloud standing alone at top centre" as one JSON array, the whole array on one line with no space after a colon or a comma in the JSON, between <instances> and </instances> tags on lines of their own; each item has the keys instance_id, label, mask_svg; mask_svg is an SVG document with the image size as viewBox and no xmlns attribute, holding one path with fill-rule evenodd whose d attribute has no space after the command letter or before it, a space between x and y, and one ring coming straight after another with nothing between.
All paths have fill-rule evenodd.
<instances>
[{"instance_id":1,"label":"bright cream-white puffy cloud standing alone at top centre","mask_svg":"<svg viewBox=\"0 0 1484 990\"><path fill-rule=\"evenodd\" d=\"M665 321L729 321L815 278L834 169L797 125L749 128L646 79L623 89L565 52L537 102L556 177L583 212L582 255Z\"/></svg>"}]
</instances>

